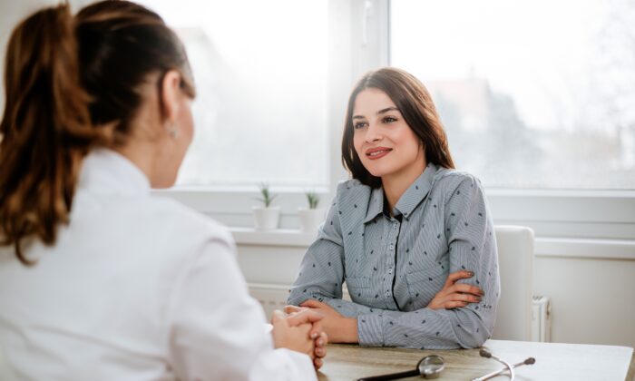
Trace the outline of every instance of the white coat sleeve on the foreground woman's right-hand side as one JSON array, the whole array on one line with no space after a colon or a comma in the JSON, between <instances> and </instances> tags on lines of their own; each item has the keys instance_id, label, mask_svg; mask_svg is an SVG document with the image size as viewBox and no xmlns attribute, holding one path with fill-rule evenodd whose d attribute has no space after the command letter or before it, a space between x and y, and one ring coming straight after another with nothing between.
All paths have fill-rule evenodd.
<instances>
[{"instance_id":1,"label":"white coat sleeve on the foreground woman's right-hand side","mask_svg":"<svg viewBox=\"0 0 635 381\"><path fill-rule=\"evenodd\" d=\"M170 361L183 380L315 380L308 356L274 349L249 297L233 247L206 242L180 272L166 325Z\"/></svg>"}]
</instances>

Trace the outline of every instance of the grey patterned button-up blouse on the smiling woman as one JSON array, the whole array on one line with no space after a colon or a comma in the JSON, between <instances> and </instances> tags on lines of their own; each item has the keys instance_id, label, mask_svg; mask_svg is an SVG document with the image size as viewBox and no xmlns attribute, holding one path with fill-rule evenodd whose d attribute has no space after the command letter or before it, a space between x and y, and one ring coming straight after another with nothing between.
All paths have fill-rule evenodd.
<instances>
[{"instance_id":1,"label":"grey patterned button-up blouse on the smiling woman","mask_svg":"<svg viewBox=\"0 0 635 381\"><path fill-rule=\"evenodd\" d=\"M480 347L500 294L493 222L474 176L428 164L386 212L384 191L357 180L337 186L318 239L302 259L288 303L314 298L357 317L362 346ZM426 308L450 272L484 290L464 308ZM352 301L342 299L347 283Z\"/></svg>"}]
</instances>

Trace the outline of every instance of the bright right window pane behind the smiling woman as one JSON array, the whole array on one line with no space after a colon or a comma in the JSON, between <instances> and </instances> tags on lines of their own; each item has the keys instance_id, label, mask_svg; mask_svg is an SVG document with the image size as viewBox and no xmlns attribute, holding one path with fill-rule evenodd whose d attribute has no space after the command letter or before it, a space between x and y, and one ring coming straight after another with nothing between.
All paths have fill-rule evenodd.
<instances>
[{"instance_id":1,"label":"bright right window pane behind the smiling woman","mask_svg":"<svg viewBox=\"0 0 635 381\"><path fill-rule=\"evenodd\" d=\"M635 189L635 3L393 0L391 64L457 166L503 188Z\"/></svg>"}]
</instances>

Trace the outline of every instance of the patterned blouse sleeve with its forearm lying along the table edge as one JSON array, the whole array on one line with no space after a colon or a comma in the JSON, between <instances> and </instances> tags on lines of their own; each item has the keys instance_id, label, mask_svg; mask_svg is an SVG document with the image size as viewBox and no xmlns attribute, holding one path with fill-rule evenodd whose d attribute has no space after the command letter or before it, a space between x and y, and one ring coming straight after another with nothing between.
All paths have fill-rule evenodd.
<instances>
[{"instance_id":1,"label":"patterned blouse sleeve with its forearm lying along the table edge","mask_svg":"<svg viewBox=\"0 0 635 381\"><path fill-rule=\"evenodd\" d=\"M410 312L374 310L358 315L359 343L366 346L455 348L480 347L491 336L500 293L493 223L484 191L469 177L446 195L450 272L474 271L460 283L484 289L479 304L464 308L421 308Z\"/></svg>"}]
</instances>

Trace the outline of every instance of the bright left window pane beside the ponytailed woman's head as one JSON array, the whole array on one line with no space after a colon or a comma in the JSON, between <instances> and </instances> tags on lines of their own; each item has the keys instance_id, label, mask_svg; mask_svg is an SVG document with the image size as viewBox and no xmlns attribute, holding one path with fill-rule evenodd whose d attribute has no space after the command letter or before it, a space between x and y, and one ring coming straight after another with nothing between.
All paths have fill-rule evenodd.
<instances>
[{"instance_id":1,"label":"bright left window pane beside the ponytailed woman's head","mask_svg":"<svg viewBox=\"0 0 635 381\"><path fill-rule=\"evenodd\" d=\"M181 185L327 183L327 2L147 0L194 72Z\"/></svg>"}]
</instances>

